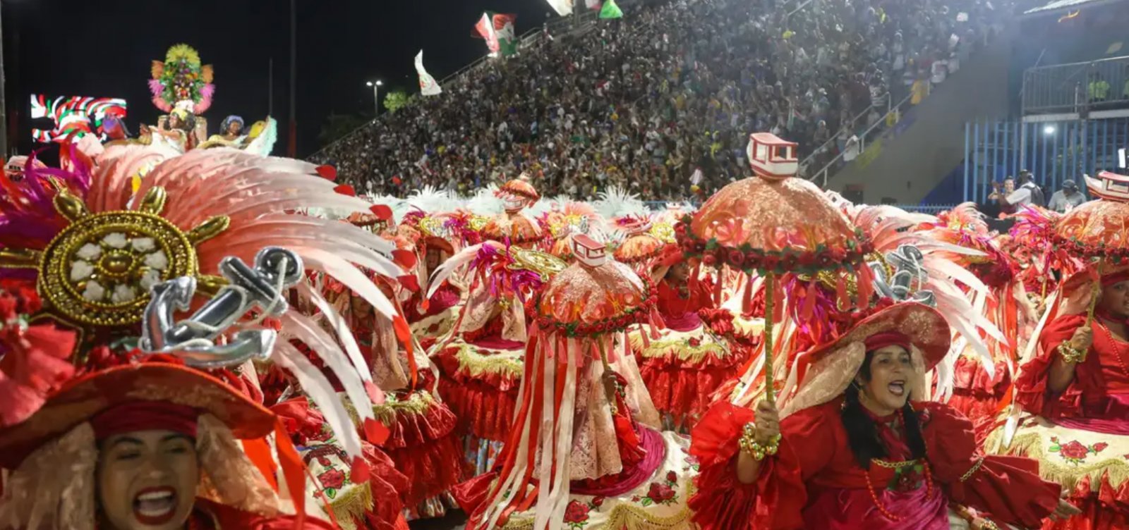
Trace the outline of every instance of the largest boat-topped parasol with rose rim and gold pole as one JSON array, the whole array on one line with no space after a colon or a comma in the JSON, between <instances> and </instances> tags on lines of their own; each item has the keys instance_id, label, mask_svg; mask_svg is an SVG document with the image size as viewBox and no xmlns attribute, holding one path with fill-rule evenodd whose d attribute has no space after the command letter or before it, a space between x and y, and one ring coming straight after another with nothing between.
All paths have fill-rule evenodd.
<instances>
[{"instance_id":1,"label":"largest boat-topped parasol with rose rim and gold pole","mask_svg":"<svg viewBox=\"0 0 1129 530\"><path fill-rule=\"evenodd\" d=\"M824 279L833 274L837 283L846 283L854 273L858 277L857 300L868 302L872 292L873 276L865 264L872 245L819 187L795 178L795 150L796 143L773 134L751 134L747 154L755 176L721 188L675 227L685 257L700 259L704 266L725 265L764 279L764 376L769 400L776 394L772 327L774 306L781 302L779 276L807 275L815 282L820 273L825 273ZM745 286L746 309L752 283L750 280ZM749 388L745 378L736 394Z\"/></svg>"}]
</instances>

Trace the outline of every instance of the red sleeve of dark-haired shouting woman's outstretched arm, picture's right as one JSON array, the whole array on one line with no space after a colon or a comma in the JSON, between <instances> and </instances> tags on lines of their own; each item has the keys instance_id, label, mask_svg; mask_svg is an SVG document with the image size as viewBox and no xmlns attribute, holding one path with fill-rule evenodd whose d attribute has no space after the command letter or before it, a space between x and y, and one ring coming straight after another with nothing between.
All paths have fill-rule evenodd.
<instances>
[{"instance_id":1,"label":"red sleeve of dark-haired shouting woman's outstretched arm, picture's right","mask_svg":"<svg viewBox=\"0 0 1129 530\"><path fill-rule=\"evenodd\" d=\"M922 432L934 477L949 500L986 512L996 522L1039 528L1058 506L1059 485L1039 477L1039 462L1022 457L986 457L972 422L948 405L926 405Z\"/></svg>"}]
</instances>

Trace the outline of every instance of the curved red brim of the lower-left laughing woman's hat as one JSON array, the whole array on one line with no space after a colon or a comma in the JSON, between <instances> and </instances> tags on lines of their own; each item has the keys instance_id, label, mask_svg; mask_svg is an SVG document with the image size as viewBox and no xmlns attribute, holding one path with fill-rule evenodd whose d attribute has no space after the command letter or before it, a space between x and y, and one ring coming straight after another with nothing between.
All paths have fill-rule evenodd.
<instances>
[{"instance_id":1,"label":"curved red brim of the lower-left laughing woman's hat","mask_svg":"<svg viewBox=\"0 0 1129 530\"><path fill-rule=\"evenodd\" d=\"M132 401L168 403L211 414L240 440L263 438L275 426L273 413L199 370L160 362L128 364L64 383L30 417L0 431L0 468L16 469L44 443Z\"/></svg>"}]
</instances>

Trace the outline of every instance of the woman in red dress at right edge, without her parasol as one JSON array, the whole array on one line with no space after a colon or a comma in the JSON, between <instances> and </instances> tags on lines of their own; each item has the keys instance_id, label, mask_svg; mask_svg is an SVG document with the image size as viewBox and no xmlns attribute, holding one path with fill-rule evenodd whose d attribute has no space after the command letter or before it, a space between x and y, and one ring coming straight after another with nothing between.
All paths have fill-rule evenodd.
<instances>
[{"instance_id":1,"label":"woman in red dress at right edge, without her parasol","mask_svg":"<svg viewBox=\"0 0 1129 530\"><path fill-rule=\"evenodd\" d=\"M1106 267L1100 280L1093 268L1067 280L1064 315L1039 335L1039 354L1016 380L1016 401L1040 418L1018 429L1008 452L1039 459L1043 476L1061 480L1083 510L1048 530L1129 528L1121 471L1129 453L1129 268Z\"/></svg>"}]
</instances>

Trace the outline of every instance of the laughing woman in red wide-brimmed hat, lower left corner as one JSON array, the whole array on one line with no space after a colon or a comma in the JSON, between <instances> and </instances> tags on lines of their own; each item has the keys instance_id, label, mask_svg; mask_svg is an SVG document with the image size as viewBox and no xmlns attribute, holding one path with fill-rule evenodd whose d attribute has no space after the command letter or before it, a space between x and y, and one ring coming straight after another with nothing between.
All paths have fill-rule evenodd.
<instances>
[{"instance_id":1,"label":"laughing woman in red wide-brimmed hat, lower left corner","mask_svg":"<svg viewBox=\"0 0 1129 530\"><path fill-rule=\"evenodd\" d=\"M305 477L288 443L279 457L289 465L275 477L265 436L285 432L270 410L180 364L87 373L0 431L0 467L12 469L0 527L335 528L306 515ZM248 458L244 448L266 460ZM283 514L280 480L298 500L297 514Z\"/></svg>"}]
</instances>

